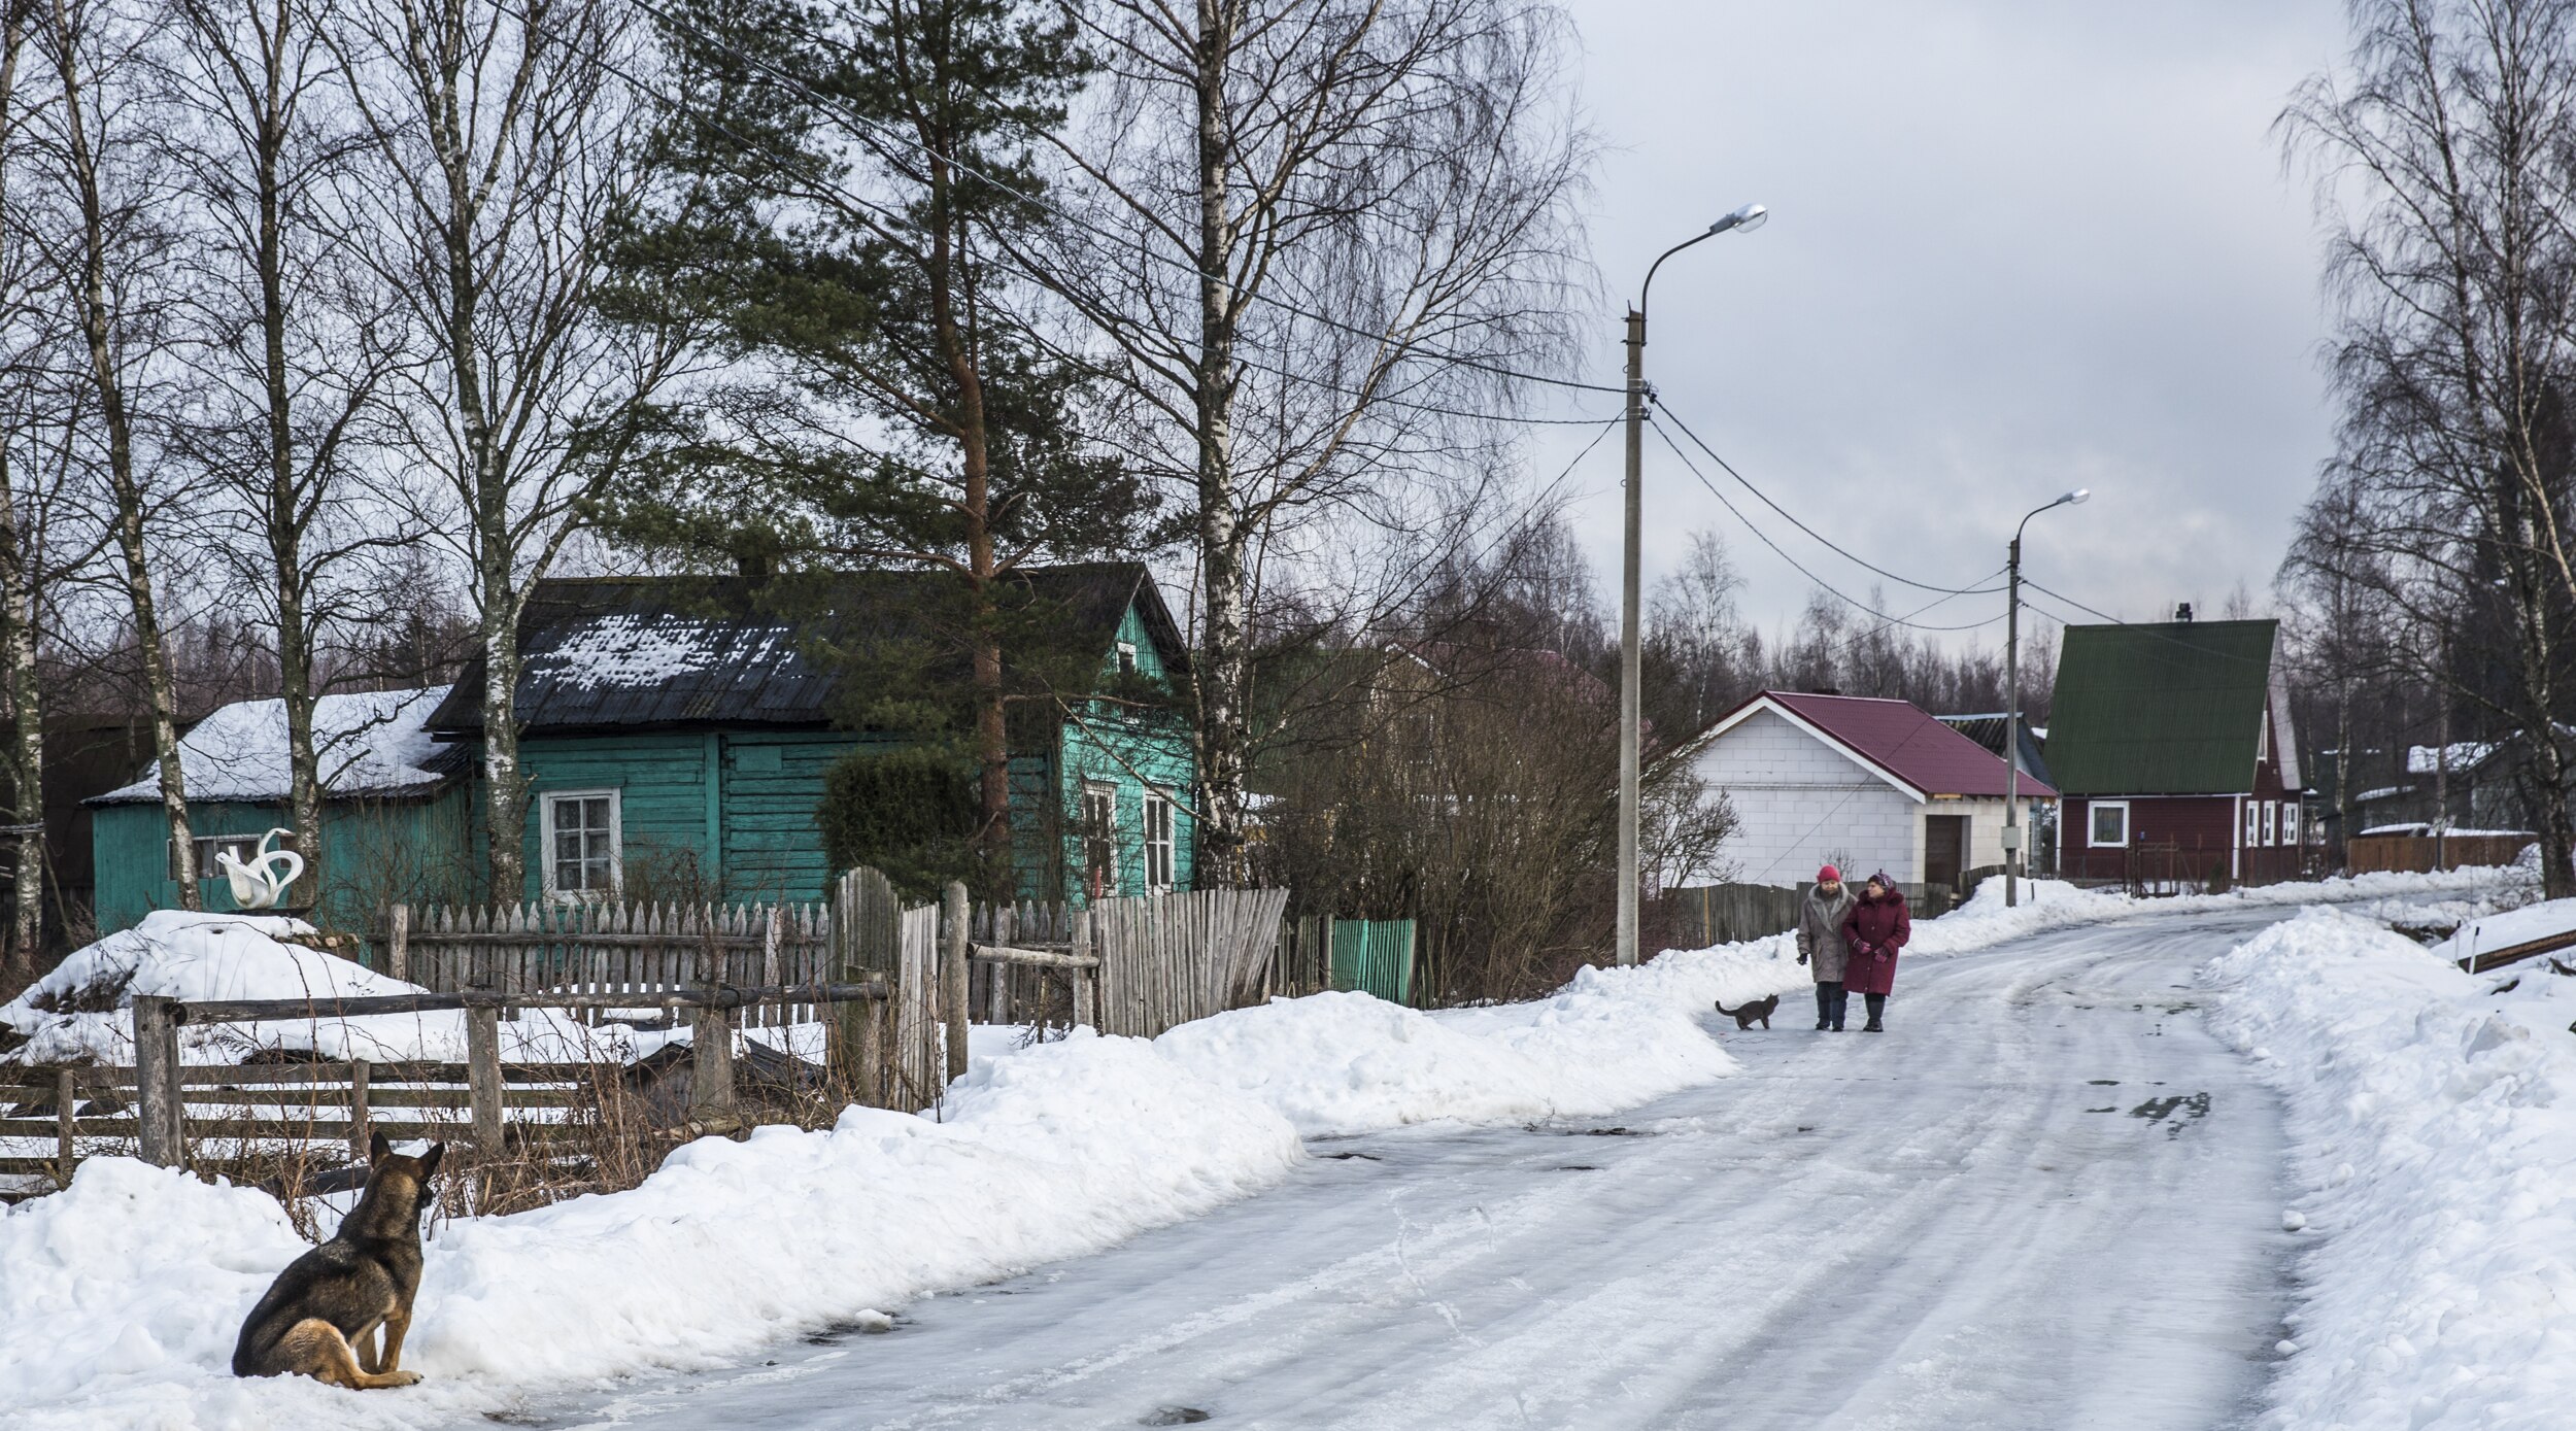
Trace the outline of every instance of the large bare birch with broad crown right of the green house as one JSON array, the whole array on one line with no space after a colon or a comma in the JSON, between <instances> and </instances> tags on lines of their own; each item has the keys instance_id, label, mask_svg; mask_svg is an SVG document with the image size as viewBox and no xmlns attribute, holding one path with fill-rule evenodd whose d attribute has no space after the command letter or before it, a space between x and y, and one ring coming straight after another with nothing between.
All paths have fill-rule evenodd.
<instances>
[{"instance_id":1,"label":"large bare birch with broad crown right of the green house","mask_svg":"<svg viewBox=\"0 0 2576 1431\"><path fill-rule=\"evenodd\" d=\"M1492 458L1564 337L1587 142L1543 0L1105 0L1056 134L1079 221L1023 252L1105 340L1141 471L1195 510L1200 870L1247 878L1265 543ZM1383 507L1391 510L1391 507Z\"/></svg>"}]
</instances>

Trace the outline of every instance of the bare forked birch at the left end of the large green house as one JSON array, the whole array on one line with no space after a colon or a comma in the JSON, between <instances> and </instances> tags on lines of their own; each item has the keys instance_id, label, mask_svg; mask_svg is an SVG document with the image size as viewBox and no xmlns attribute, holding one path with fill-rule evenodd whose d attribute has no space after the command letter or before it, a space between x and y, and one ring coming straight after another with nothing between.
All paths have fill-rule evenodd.
<instances>
[{"instance_id":1,"label":"bare forked birch at the left end of the large green house","mask_svg":"<svg viewBox=\"0 0 2576 1431\"><path fill-rule=\"evenodd\" d=\"M368 139L358 252L417 340L397 438L482 623L495 898L526 883L520 610L685 353L680 329L595 306L644 183L647 124L618 80L644 64L639 31L616 0L350 0L332 28Z\"/></svg>"}]
</instances>

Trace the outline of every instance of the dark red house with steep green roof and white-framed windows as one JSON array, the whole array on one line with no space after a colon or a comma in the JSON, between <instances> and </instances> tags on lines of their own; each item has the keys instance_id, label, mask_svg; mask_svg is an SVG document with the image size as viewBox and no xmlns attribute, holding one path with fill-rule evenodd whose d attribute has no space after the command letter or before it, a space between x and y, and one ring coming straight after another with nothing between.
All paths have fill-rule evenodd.
<instances>
[{"instance_id":1,"label":"dark red house with steep green roof and white-framed windows","mask_svg":"<svg viewBox=\"0 0 2576 1431\"><path fill-rule=\"evenodd\" d=\"M2280 623L2069 625L2048 710L2074 880L2269 883L2303 872Z\"/></svg>"}]
</instances>

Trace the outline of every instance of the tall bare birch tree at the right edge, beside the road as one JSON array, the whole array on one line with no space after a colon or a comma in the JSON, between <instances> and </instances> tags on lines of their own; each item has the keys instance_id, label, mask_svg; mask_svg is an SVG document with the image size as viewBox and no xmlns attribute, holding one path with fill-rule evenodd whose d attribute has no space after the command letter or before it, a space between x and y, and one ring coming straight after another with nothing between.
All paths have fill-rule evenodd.
<instances>
[{"instance_id":1,"label":"tall bare birch tree at the right edge, beside the road","mask_svg":"<svg viewBox=\"0 0 2576 1431\"><path fill-rule=\"evenodd\" d=\"M2530 739L2550 898L2576 893L2568 813L2568 402L2576 396L2576 5L2354 0L2344 72L2282 113L2318 170L2342 304L2336 466L2419 631L2494 610L2501 692ZM2494 602L2481 600L2494 595ZM2460 687L2439 661L2434 679Z\"/></svg>"}]
</instances>

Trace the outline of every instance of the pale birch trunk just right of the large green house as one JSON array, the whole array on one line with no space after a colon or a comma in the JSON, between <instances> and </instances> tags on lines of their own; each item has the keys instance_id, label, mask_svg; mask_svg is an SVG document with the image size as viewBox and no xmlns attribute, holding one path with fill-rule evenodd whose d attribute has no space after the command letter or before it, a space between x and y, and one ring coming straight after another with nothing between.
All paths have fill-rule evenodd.
<instances>
[{"instance_id":1,"label":"pale birch trunk just right of the large green house","mask_svg":"<svg viewBox=\"0 0 2576 1431\"><path fill-rule=\"evenodd\" d=\"M1249 564L1234 474L1234 332L1229 275L1234 221L1226 214L1231 149L1226 64L1234 54L1224 0L1198 0L1198 582L1206 592L1198 685L1198 883L1244 885L1244 764L1252 685Z\"/></svg>"}]
</instances>

